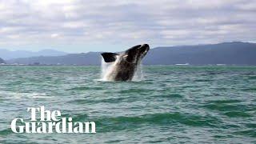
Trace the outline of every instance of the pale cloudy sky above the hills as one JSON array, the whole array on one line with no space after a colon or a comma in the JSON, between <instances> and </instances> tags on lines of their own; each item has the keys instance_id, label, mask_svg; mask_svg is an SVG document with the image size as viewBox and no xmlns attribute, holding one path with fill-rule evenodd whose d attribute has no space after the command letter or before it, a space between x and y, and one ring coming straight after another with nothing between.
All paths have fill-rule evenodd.
<instances>
[{"instance_id":1,"label":"pale cloudy sky above the hills","mask_svg":"<svg viewBox=\"0 0 256 144\"><path fill-rule=\"evenodd\" d=\"M0 49L256 42L255 0L0 0Z\"/></svg>"}]
</instances>

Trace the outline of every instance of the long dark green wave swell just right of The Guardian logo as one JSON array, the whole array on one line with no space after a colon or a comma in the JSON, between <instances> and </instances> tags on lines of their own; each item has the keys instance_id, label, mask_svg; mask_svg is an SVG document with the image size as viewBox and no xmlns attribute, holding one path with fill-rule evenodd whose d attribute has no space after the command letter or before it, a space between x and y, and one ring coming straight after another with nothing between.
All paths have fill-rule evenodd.
<instances>
[{"instance_id":1,"label":"long dark green wave swell just right of The Guardian logo","mask_svg":"<svg viewBox=\"0 0 256 144\"><path fill-rule=\"evenodd\" d=\"M105 130L129 130L133 127L144 125L162 125L162 126L198 126L198 127L220 127L222 121L212 116L201 116L195 114L182 113L160 113L160 114L144 114L134 117L115 117L115 118L99 118L96 120L99 124L100 131Z\"/></svg>"}]
</instances>

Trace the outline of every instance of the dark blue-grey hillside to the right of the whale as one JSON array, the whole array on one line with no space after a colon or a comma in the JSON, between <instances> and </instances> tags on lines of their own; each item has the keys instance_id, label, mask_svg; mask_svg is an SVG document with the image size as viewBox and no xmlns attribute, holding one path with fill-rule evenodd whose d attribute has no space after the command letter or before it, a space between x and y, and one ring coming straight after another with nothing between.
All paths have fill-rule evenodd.
<instances>
[{"instance_id":1,"label":"dark blue-grey hillside to the right of the whale","mask_svg":"<svg viewBox=\"0 0 256 144\"><path fill-rule=\"evenodd\" d=\"M248 42L224 42L198 46L158 47L150 50L144 59L149 65L227 64L256 65L256 44Z\"/></svg>"}]
</instances>

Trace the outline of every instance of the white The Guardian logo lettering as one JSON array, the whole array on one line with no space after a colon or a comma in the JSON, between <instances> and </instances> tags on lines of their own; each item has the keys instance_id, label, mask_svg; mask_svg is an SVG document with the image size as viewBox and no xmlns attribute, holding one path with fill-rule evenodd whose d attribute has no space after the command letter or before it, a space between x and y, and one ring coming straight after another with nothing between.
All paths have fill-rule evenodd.
<instances>
[{"instance_id":1,"label":"white The Guardian logo lettering","mask_svg":"<svg viewBox=\"0 0 256 144\"><path fill-rule=\"evenodd\" d=\"M11 122L14 133L96 133L95 122L72 122L72 118L62 118L59 110L51 112L40 106L28 107L27 112L31 115L29 122L23 118L14 118Z\"/></svg>"}]
</instances>

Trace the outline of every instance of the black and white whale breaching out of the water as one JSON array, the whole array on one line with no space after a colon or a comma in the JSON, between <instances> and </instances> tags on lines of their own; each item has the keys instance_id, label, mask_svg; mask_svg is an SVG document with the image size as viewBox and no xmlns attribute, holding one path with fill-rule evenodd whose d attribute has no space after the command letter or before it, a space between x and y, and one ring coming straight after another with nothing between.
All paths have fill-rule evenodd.
<instances>
[{"instance_id":1,"label":"black and white whale breaching out of the water","mask_svg":"<svg viewBox=\"0 0 256 144\"><path fill-rule=\"evenodd\" d=\"M150 50L148 44L133 46L121 54L102 53L105 62L113 62L105 74L107 81L131 81L142 58Z\"/></svg>"}]
</instances>

